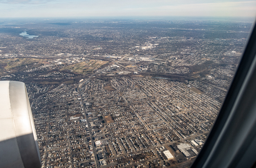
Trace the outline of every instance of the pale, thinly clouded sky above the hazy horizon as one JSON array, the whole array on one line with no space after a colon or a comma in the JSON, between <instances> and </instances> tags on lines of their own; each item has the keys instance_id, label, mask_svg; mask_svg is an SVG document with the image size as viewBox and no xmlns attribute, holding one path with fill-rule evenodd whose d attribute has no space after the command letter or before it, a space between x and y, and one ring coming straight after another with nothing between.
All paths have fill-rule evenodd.
<instances>
[{"instance_id":1,"label":"pale, thinly clouded sky above the hazy horizon","mask_svg":"<svg viewBox=\"0 0 256 168\"><path fill-rule=\"evenodd\" d=\"M3 17L255 17L256 0L0 0Z\"/></svg>"}]
</instances>

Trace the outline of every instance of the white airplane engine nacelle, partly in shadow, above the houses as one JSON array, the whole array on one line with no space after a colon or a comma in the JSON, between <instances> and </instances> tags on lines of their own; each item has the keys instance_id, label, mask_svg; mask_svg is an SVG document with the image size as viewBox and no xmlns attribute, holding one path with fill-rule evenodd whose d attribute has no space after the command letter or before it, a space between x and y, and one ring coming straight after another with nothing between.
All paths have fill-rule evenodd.
<instances>
[{"instance_id":1,"label":"white airplane engine nacelle, partly in shadow, above the houses","mask_svg":"<svg viewBox=\"0 0 256 168\"><path fill-rule=\"evenodd\" d=\"M40 168L25 83L0 81L0 168Z\"/></svg>"}]
</instances>

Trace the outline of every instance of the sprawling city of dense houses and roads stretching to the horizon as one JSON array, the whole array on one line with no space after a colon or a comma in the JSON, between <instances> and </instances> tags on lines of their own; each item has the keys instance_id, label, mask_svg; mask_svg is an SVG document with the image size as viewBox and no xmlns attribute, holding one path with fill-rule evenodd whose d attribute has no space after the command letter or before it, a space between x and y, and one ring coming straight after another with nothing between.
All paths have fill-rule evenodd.
<instances>
[{"instance_id":1,"label":"sprawling city of dense houses and roads stretching to the horizon","mask_svg":"<svg viewBox=\"0 0 256 168\"><path fill-rule=\"evenodd\" d=\"M185 168L251 21L2 19L0 80L26 84L42 168Z\"/></svg>"}]
</instances>

